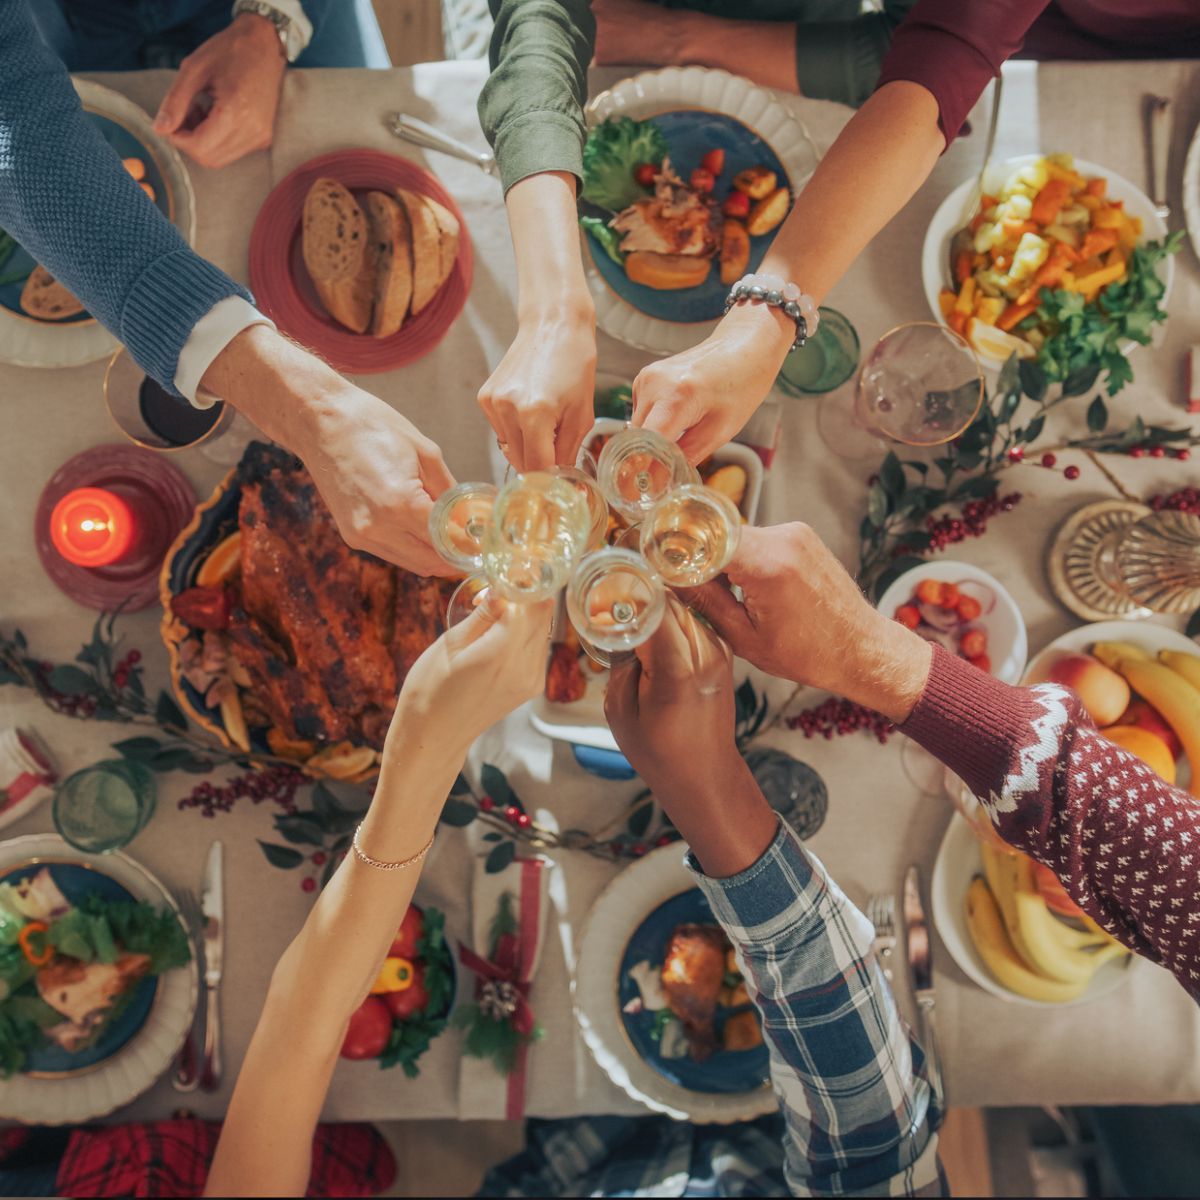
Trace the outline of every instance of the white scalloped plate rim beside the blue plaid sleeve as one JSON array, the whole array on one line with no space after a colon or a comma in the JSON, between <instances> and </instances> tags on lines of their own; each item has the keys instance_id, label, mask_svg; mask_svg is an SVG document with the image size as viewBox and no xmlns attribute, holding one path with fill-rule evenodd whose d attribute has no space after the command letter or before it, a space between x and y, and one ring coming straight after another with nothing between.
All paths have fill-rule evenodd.
<instances>
[{"instance_id":1,"label":"white scalloped plate rim beside the blue plaid sleeve","mask_svg":"<svg viewBox=\"0 0 1200 1200\"><path fill-rule=\"evenodd\" d=\"M679 845L662 846L626 866L600 893L580 935L571 977L575 1016L605 1074L632 1099L677 1121L731 1124L779 1108L768 1085L750 1092L694 1092L660 1075L634 1050L620 1018L618 973L634 932L660 904L696 887Z\"/></svg>"}]
</instances>

